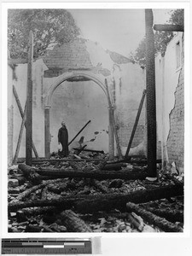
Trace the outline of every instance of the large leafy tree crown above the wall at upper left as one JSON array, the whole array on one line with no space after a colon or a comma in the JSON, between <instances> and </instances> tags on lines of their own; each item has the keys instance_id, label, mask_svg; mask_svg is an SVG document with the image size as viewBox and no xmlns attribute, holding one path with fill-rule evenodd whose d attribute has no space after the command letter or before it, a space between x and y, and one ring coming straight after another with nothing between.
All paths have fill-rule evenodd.
<instances>
[{"instance_id":1,"label":"large leafy tree crown above the wall at upper left","mask_svg":"<svg viewBox=\"0 0 192 256\"><path fill-rule=\"evenodd\" d=\"M44 55L50 44L70 42L79 27L66 9L9 9L8 48L11 58L26 58L29 32L34 38L34 56Z\"/></svg>"}]
</instances>

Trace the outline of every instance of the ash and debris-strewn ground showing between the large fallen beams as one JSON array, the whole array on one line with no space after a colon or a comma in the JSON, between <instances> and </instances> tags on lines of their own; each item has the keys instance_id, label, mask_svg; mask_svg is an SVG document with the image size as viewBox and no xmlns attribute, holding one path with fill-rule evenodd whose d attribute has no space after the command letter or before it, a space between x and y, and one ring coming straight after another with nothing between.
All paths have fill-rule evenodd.
<instances>
[{"instance_id":1,"label":"ash and debris-strewn ground showing between the large fallen beams","mask_svg":"<svg viewBox=\"0 0 192 256\"><path fill-rule=\"evenodd\" d=\"M86 161L89 158L108 159L105 154L70 154L63 161L57 155L52 156L52 161L43 161L41 164L33 165L34 170L39 168L56 168L57 170L97 170L98 161ZM74 161L81 159L81 161ZM133 159L134 160L134 159ZM120 170L131 171L137 169L146 170L145 164L123 163ZM77 196L89 195L125 195L140 190L155 189L162 186L183 184L183 174L178 173L174 166L162 168L157 165L158 180L148 182L147 180L126 180L126 179L104 179L96 180L93 178L66 177L49 178L34 183L26 177L19 166L9 167L9 189L8 202L27 201L52 201L62 198L75 198ZM78 172L78 171L77 171ZM103 171L104 172L104 171ZM118 170L117 170L118 172ZM30 190L31 189L31 190ZM26 191L31 191L26 194ZM94 198L94 197L93 197ZM90 206L91 207L91 206ZM153 212L157 217L157 223L151 223L148 218L140 216L134 211L125 211L119 208L110 208L108 211L79 212L75 207L68 207L62 210L61 207L34 206L34 207L15 207L9 210L9 232L166 232L164 226L159 224L168 222L179 231L183 230L183 195L162 198L160 200L148 201L137 204L144 211ZM159 212L156 210L160 210ZM156 211L156 212L155 212ZM166 212L166 213L165 213ZM159 215L158 215L159 214ZM160 219L159 219L160 218Z\"/></svg>"}]
</instances>

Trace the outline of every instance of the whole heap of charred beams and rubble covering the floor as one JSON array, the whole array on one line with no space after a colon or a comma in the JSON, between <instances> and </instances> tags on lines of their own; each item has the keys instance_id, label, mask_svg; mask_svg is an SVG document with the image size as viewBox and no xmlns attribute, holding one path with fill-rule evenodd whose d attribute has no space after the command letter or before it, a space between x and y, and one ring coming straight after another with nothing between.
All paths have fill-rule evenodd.
<instances>
[{"instance_id":1,"label":"whole heap of charred beams and rubble covering the floor","mask_svg":"<svg viewBox=\"0 0 192 256\"><path fill-rule=\"evenodd\" d=\"M182 232L183 176L146 172L102 153L11 166L9 232Z\"/></svg>"}]
</instances>

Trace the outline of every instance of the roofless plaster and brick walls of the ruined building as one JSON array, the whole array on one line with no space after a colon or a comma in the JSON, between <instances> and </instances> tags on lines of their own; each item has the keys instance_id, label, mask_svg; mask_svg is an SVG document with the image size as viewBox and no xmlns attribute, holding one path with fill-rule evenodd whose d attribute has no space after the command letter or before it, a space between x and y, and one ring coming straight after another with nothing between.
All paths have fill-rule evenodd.
<instances>
[{"instance_id":1,"label":"roofless plaster and brick walls of the ruined building","mask_svg":"<svg viewBox=\"0 0 192 256\"><path fill-rule=\"evenodd\" d=\"M158 156L175 161L183 168L183 33L168 44L166 55L156 56ZM9 60L9 163L15 154L20 132L20 111L26 102L27 63ZM116 130L123 154L129 142L139 103L145 89L145 70L137 63L100 44L78 38L73 43L56 45L33 63L33 143L41 157L57 151L57 132L64 119L69 140L82 131L87 148L116 154L113 125L109 119L108 95L113 103ZM145 106L137 125L131 153L146 154ZM77 138L79 139L79 137ZM73 148L73 143L70 148ZM25 132L19 157L25 157Z\"/></svg>"}]
</instances>

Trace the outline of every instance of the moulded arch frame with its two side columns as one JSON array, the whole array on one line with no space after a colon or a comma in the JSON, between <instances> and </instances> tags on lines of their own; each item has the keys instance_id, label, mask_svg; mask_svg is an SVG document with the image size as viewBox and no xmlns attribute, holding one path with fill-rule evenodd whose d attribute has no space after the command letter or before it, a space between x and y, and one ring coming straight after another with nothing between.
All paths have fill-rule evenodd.
<instances>
[{"instance_id":1,"label":"moulded arch frame with its two side columns","mask_svg":"<svg viewBox=\"0 0 192 256\"><path fill-rule=\"evenodd\" d=\"M54 94L55 89L62 84L63 82L67 81L68 79L78 79L78 78L83 78L83 79L89 79L95 82L97 85L99 85L103 93L106 96L106 99L108 101L108 93L107 93L107 88L104 82L102 81L102 78L96 75L95 73L91 73L88 71L73 71L70 73L63 73L61 74L58 79L55 80L55 82L50 86L49 91L46 96L46 101L45 101L45 109L44 109L44 152L45 152L45 157L49 158L50 155L50 118L49 118L49 113L50 113L50 108L51 108L51 98ZM104 80L104 79L103 79ZM108 106L110 106L108 102ZM108 108L108 153L109 153L109 158L112 160L114 156L114 139L113 139L113 123L112 123L112 115L113 115L113 109Z\"/></svg>"}]
</instances>

